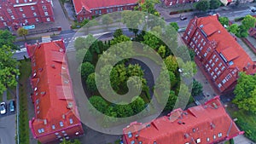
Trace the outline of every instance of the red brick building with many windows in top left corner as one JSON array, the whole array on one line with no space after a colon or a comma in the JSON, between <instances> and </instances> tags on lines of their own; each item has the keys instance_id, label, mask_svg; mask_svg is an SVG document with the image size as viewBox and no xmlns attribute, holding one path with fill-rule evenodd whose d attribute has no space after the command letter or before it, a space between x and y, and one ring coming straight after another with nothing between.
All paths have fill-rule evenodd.
<instances>
[{"instance_id":1,"label":"red brick building with many windows in top left corner","mask_svg":"<svg viewBox=\"0 0 256 144\"><path fill-rule=\"evenodd\" d=\"M51 0L3 0L0 2L0 28L17 30L55 20Z\"/></svg>"}]
</instances>

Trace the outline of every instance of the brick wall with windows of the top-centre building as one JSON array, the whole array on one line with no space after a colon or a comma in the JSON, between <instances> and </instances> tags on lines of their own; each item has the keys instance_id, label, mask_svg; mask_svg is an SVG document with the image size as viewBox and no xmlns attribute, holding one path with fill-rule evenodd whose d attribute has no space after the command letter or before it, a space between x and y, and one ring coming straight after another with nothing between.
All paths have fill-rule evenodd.
<instances>
[{"instance_id":1,"label":"brick wall with windows of the top-centre building","mask_svg":"<svg viewBox=\"0 0 256 144\"><path fill-rule=\"evenodd\" d=\"M77 20L83 21L85 19L91 19L93 16L100 16L102 14L108 14L108 13L123 11L123 10L133 10L135 6L137 6L137 4L124 5L120 7L113 6L111 8L104 8L104 9L91 9L91 13L86 11L85 9L82 9L81 12L77 14Z\"/></svg>"}]
</instances>

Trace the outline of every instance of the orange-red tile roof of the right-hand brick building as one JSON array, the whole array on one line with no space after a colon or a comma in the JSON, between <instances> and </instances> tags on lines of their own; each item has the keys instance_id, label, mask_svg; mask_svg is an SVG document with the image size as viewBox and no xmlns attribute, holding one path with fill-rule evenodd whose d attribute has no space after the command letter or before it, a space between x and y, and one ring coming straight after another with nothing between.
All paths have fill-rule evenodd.
<instances>
[{"instance_id":1,"label":"orange-red tile roof of the right-hand brick building","mask_svg":"<svg viewBox=\"0 0 256 144\"><path fill-rule=\"evenodd\" d=\"M215 49L218 51L218 54L223 53L227 60L232 60L234 64L230 68L237 67L240 71L243 71L243 68L247 67L248 64L253 66L255 62L241 48L241 45L236 42L236 39L219 23L218 15L196 18L196 23L203 32L206 32L208 40L217 43ZM256 73L256 69L247 71L247 74L253 73Z\"/></svg>"}]
</instances>

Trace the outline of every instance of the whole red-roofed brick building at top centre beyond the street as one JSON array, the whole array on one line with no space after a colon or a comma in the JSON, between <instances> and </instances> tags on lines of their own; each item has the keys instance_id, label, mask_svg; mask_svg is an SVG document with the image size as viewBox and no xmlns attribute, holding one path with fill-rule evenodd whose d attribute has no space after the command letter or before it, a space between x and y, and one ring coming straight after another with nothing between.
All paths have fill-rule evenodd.
<instances>
[{"instance_id":1,"label":"whole red-roofed brick building at top centre beyond the street","mask_svg":"<svg viewBox=\"0 0 256 144\"><path fill-rule=\"evenodd\" d=\"M91 19L93 16L123 10L133 10L137 0L73 0L77 20Z\"/></svg>"}]
</instances>

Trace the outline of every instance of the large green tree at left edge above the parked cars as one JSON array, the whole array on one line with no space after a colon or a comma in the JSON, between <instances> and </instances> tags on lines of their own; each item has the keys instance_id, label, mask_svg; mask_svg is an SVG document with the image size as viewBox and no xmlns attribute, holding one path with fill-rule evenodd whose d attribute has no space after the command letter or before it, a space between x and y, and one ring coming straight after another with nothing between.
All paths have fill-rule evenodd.
<instances>
[{"instance_id":1,"label":"large green tree at left edge above the parked cars","mask_svg":"<svg viewBox=\"0 0 256 144\"><path fill-rule=\"evenodd\" d=\"M12 56L13 53L9 46L3 45L0 48L0 95L7 88L16 86L16 76L20 75L16 68L18 62Z\"/></svg>"}]
</instances>

